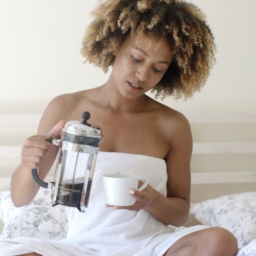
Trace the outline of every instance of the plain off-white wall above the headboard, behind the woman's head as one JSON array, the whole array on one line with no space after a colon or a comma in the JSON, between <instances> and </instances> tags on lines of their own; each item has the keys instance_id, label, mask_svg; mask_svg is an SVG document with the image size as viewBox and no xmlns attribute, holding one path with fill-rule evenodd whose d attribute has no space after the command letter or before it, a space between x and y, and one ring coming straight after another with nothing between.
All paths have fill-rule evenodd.
<instances>
[{"instance_id":1,"label":"plain off-white wall above the headboard, behind the woman's head","mask_svg":"<svg viewBox=\"0 0 256 256\"><path fill-rule=\"evenodd\" d=\"M256 120L256 1L194 0L207 15L217 65L200 94L168 106L193 120ZM108 74L79 54L96 1L0 0L0 114L42 113L56 95L92 88Z\"/></svg>"}]
</instances>

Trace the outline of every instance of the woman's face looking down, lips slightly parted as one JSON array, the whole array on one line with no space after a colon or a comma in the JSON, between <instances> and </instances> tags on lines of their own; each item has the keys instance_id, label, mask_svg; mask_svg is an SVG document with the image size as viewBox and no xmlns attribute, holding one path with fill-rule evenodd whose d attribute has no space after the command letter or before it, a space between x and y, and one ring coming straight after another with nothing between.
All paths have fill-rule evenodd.
<instances>
[{"instance_id":1,"label":"woman's face looking down, lips slightly parted","mask_svg":"<svg viewBox=\"0 0 256 256\"><path fill-rule=\"evenodd\" d=\"M112 77L121 95L135 99L158 84L173 59L171 45L153 36L128 37L113 64Z\"/></svg>"}]
</instances>

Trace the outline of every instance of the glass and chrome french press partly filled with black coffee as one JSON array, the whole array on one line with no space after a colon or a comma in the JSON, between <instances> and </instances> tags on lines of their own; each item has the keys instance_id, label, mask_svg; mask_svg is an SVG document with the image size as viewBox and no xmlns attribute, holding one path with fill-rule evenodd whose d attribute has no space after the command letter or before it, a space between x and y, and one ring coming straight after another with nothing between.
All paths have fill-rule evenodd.
<instances>
[{"instance_id":1,"label":"glass and chrome french press partly filled with black coffee","mask_svg":"<svg viewBox=\"0 0 256 256\"><path fill-rule=\"evenodd\" d=\"M90 113L83 112L82 118L83 121L68 121L62 129L61 139L47 139L59 147L54 182L42 181L37 169L32 169L32 176L41 187L51 190L53 206L77 207L85 212L99 145L104 140L100 127L87 122Z\"/></svg>"}]
</instances>

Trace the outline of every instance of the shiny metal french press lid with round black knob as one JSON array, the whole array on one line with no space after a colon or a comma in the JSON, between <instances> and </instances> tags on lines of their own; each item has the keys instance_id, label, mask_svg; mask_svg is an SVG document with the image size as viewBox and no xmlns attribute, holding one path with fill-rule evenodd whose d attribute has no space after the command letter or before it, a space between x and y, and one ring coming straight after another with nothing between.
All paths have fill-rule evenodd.
<instances>
[{"instance_id":1,"label":"shiny metal french press lid with round black knob","mask_svg":"<svg viewBox=\"0 0 256 256\"><path fill-rule=\"evenodd\" d=\"M68 121L63 128L63 132L71 133L78 136L86 136L91 138L101 138L102 130L95 124L87 123L91 117L89 112L83 112L83 121Z\"/></svg>"}]
</instances>

